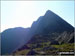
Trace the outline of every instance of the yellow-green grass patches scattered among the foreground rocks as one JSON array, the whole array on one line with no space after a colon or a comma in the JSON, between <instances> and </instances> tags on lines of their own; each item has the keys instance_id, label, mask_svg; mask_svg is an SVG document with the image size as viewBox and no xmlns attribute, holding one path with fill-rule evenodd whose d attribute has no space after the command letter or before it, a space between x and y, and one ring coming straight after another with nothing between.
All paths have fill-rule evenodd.
<instances>
[{"instance_id":1,"label":"yellow-green grass patches scattered among the foreground rocks","mask_svg":"<svg viewBox=\"0 0 75 56\"><path fill-rule=\"evenodd\" d=\"M46 45L45 45L46 44ZM30 47L32 47L31 45L35 45L35 44L29 44ZM52 53L52 52L68 52L68 51L74 51L74 43L66 43L66 44L61 44L61 45L49 45L49 42L45 42L45 43L41 43L42 48L33 48L35 51L41 51L44 47L49 47L52 46L54 48L57 48L57 50L46 50L44 52L46 52L47 54ZM30 51L30 49L25 49L25 50L21 50L21 51L16 51L15 54L17 55L26 55L28 52Z\"/></svg>"}]
</instances>

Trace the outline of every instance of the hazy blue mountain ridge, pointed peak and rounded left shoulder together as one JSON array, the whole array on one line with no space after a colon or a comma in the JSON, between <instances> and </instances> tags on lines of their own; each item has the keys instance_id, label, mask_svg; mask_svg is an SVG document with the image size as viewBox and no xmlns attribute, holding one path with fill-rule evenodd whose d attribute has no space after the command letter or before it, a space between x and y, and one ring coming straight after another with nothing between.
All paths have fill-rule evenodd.
<instances>
[{"instance_id":1,"label":"hazy blue mountain ridge, pointed peak and rounded left shoulder together","mask_svg":"<svg viewBox=\"0 0 75 56\"><path fill-rule=\"evenodd\" d=\"M59 17L58 15L56 15L55 13L53 13L50 10L48 10L44 16L39 17L37 19L37 21L34 21L30 28L26 28L26 29L25 28L12 28L12 29L13 29L12 30L13 32L10 29L7 29L7 30L5 30L5 31L7 31L7 33L5 33L5 31L1 33L1 35L2 35L1 36L2 51L7 49L7 51L2 52L2 54L10 53L13 51L13 50L12 51L9 50L9 48L11 48L11 46L9 46L9 45L11 45L14 40L15 40L14 43L15 42L18 43L17 46L15 44L13 45L13 46L16 46L16 47L14 47L14 50L16 50L16 48L17 49L20 48L22 45L27 44L29 41L31 42L32 41L31 39L35 39L37 41L38 38L37 39L35 38L36 35L44 36L45 39L47 39L46 37L48 37L48 39L50 39L50 40L51 39L55 40L57 38L57 36L59 36L60 34L61 34L61 37L63 37L62 34L64 33L64 31L70 32L70 33L74 32L74 27L72 27L70 24L68 24L66 21L64 21L61 17ZM58 33L58 34L56 34L56 33ZM48 35L48 34L50 34L50 35ZM53 35L53 34L56 34L56 35ZM46 37L45 37L45 35L46 35ZM55 36L55 37L53 37L53 36ZM7 40L5 39L5 37L9 38L9 39L7 38L8 42L9 42L8 47L6 45L3 45L4 43L7 43ZM59 37L58 39L60 39L61 37ZM22 38L22 40L21 40L21 38ZM43 37L41 38L41 40L45 40L45 39L43 39ZM66 39L66 37L64 38L64 40L65 39ZM24 41L24 42L21 42L20 40ZM61 40L63 41L63 39L61 39ZM6 49L4 49L4 47L6 47Z\"/></svg>"}]
</instances>

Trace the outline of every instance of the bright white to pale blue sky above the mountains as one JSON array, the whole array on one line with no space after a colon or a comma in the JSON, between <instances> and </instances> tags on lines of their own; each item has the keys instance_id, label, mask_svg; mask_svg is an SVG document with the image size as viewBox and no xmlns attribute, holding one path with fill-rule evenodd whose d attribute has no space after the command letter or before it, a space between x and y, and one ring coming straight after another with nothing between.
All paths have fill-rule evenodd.
<instances>
[{"instance_id":1,"label":"bright white to pale blue sky above the mountains","mask_svg":"<svg viewBox=\"0 0 75 56\"><path fill-rule=\"evenodd\" d=\"M74 26L74 1L1 1L1 32L8 28L31 27L47 10Z\"/></svg>"}]
</instances>

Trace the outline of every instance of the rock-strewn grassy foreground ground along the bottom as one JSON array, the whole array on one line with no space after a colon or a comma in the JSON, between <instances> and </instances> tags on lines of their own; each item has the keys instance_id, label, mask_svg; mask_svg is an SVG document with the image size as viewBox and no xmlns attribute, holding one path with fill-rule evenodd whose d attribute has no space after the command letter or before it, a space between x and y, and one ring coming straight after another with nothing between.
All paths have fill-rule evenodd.
<instances>
[{"instance_id":1,"label":"rock-strewn grassy foreground ground along the bottom","mask_svg":"<svg viewBox=\"0 0 75 56\"><path fill-rule=\"evenodd\" d=\"M49 42L28 44L18 49L14 55L58 55L60 52L74 52L74 43L50 45Z\"/></svg>"}]
</instances>

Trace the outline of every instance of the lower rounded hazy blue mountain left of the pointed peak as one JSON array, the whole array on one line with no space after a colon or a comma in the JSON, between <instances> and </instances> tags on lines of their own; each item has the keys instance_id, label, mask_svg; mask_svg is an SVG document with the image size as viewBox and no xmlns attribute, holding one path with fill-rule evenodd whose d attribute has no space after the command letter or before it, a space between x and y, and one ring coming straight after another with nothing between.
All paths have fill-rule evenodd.
<instances>
[{"instance_id":1,"label":"lower rounded hazy blue mountain left of the pointed peak","mask_svg":"<svg viewBox=\"0 0 75 56\"><path fill-rule=\"evenodd\" d=\"M11 28L1 33L1 52L8 54L25 44L29 28Z\"/></svg>"}]
</instances>

